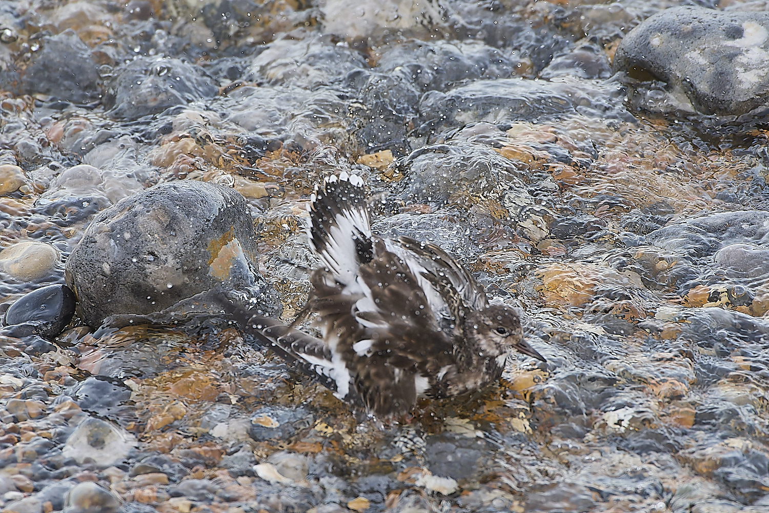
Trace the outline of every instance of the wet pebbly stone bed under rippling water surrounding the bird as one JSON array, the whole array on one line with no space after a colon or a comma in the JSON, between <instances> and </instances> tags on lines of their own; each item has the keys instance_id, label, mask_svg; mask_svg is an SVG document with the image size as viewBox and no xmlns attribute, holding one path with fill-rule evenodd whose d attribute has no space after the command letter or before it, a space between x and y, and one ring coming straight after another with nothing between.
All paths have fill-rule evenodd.
<instances>
[{"instance_id":1,"label":"wet pebbly stone bed under rippling water surrounding the bird","mask_svg":"<svg viewBox=\"0 0 769 513\"><path fill-rule=\"evenodd\" d=\"M691 3L0 2L0 511L767 511L767 2ZM341 171L548 361L381 425L212 315Z\"/></svg>"}]
</instances>

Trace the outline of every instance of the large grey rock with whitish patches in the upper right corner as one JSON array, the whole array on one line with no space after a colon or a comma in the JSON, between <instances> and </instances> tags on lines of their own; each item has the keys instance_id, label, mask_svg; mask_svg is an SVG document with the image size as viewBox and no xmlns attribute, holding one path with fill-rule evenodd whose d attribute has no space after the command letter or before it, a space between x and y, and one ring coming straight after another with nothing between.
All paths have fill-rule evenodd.
<instances>
[{"instance_id":1,"label":"large grey rock with whitish patches in the upper right corner","mask_svg":"<svg viewBox=\"0 0 769 513\"><path fill-rule=\"evenodd\" d=\"M661 112L680 106L708 115L743 115L767 108L769 13L666 9L625 36L614 68L667 82L673 89L667 106L644 102Z\"/></svg>"}]
</instances>

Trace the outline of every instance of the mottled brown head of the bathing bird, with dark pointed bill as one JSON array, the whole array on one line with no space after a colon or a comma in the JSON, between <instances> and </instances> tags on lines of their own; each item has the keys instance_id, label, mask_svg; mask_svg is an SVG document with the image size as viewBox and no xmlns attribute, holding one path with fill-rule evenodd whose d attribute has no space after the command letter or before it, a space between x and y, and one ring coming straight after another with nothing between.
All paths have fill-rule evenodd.
<instances>
[{"instance_id":1,"label":"mottled brown head of the bathing bird, with dark pointed bill","mask_svg":"<svg viewBox=\"0 0 769 513\"><path fill-rule=\"evenodd\" d=\"M490 356L504 355L509 349L546 361L523 338L521 315L508 305L489 305L468 318L470 330L481 348Z\"/></svg>"}]
</instances>

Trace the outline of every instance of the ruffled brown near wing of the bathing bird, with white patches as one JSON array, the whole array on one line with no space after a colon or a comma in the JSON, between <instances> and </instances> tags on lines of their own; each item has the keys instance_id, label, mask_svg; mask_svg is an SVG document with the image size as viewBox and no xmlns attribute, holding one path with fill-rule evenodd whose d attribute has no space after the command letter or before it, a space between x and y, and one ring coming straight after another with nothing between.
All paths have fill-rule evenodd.
<instances>
[{"instance_id":1,"label":"ruffled brown near wing of the bathing bird, with white patches","mask_svg":"<svg viewBox=\"0 0 769 513\"><path fill-rule=\"evenodd\" d=\"M376 415L400 414L419 395L431 394L432 377L454 362L454 346L408 263L381 239L372 238L371 249L371 261L358 267L355 294L330 271L315 271L311 309L366 407Z\"/></svg>"}]
</instances>

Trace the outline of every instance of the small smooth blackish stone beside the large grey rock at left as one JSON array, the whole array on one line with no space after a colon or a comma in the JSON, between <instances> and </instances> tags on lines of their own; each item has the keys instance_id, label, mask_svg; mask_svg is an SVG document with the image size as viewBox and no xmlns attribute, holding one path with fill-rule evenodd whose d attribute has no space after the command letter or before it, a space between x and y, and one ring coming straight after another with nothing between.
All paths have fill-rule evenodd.
<instances>
[{"instance_id":1,"label":"small smooth blackish stone beside the large grey rock at left","mask_svg":"<svg viewBox=\"0 0 769 513\"><path fill-rule=\"evenodd\" d=\"M6 325L28 324L44 337L55 337L72 321L75 295L67 285L48 285L17 299L5 312Z\"/></svg>"}]
</instances>

